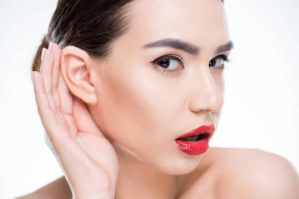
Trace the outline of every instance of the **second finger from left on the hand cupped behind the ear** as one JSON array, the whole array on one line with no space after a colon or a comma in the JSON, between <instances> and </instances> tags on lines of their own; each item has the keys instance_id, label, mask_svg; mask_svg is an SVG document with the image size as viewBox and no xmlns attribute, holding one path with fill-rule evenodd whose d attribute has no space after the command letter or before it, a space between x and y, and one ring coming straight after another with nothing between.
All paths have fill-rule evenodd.
<instances>
[{"instance_id":1,"label":"second finger from left on the hand cupped behind the ear","mask_svg":"<svg viewBox=\"0 0 299 199\"><path fill-rule=\"evenodd\" d=\"M40 66L40 75L43 79L43 85L45 88L45 93L48 96L50 106L53 111L56 112L56 102L53 97L53 65L54 65L54 55L48 49L43 49L43 58Z\"/></svg>"}]
</instances>

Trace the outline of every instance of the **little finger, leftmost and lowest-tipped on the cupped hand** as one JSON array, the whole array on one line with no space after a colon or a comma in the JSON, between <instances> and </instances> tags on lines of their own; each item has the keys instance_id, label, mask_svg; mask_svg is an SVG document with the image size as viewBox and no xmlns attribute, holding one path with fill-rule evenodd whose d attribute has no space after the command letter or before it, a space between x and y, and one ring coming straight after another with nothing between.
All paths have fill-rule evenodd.
<instances>
[{"instance_id":1,"label":"little finger, leftmost and lowest-tipped on the cupped hand","mask_svg":"<svg viewBox=\"0 0 299 199\"><path fill-rule=\"evenodd\" d=\"M43 77L36 71L32 72L35 101L42 125L47 132L57 123L55 113L45 91Z\"/></svg>"}]
</instances>

